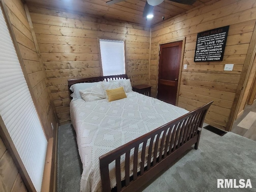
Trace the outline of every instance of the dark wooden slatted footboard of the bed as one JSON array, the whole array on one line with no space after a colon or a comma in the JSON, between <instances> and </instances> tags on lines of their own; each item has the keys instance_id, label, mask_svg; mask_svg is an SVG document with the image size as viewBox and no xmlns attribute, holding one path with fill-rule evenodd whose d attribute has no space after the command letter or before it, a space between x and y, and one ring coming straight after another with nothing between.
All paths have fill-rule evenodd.
<instances>
[{"instance_id":1,"label":"dark wooden slatted footboard of the bed","mask_svg":"<svg viewBox=\"0 0 256 192\"><path fill-rule=\"evenodd\" d=\"M100 174L103 192L110 192L109 164L115 162L116 191L136 191L186 150L198 148L202 124L212 102L148 132L102 156ZM147 144L149 143L149 145ZM138 151L141 150L141 158ZM133 153L131 154L131 151ZM158 153L159 152L159 153ZM159 155L158 155L159 154ZM121 156L125 156L125 176L121 177ZM130 159L133 159L133 174L130 176ZM138 172L138 161L140 171ZM146 166L145 166L146 165Z\"/></svg>"}]
</instances>

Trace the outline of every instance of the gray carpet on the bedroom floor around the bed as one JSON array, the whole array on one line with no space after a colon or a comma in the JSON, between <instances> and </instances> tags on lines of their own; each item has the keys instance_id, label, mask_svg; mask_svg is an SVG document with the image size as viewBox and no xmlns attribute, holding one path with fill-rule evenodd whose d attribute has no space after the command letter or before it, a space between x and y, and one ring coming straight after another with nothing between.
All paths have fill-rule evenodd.
<instances>
[{"instance_id":1,"label":"gray carpet on the bedroom floor around the bed","mask_svg":"<svg viewBox=\"0 0 256 192\"><path fill-rule=\"evenodd\" d=\"M60 126L58 137L58 192L79 192L82 166L72 125ZM217 179L250 179L252 188L217 188ZM142 191L256 192L256 142L203 129L198 150L191 148Z\"/></svg>"}]
</instances>

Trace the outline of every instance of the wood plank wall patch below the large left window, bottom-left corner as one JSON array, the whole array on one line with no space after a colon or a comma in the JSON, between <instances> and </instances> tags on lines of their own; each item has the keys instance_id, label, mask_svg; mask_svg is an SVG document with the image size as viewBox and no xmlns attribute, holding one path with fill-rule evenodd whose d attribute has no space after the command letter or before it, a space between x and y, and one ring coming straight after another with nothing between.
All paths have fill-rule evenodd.
<instances>
[{"instance_id":1,"label":"wood plank wall patch below the large left window, bottom-left corner","mask_svg":"<svg viewBox=\"0 0 256 192\"><path fill-rule=\"evenodd\" d=\"M27 192L10 153L0 137L0 191Z\"/></svg>"}]
</instances>

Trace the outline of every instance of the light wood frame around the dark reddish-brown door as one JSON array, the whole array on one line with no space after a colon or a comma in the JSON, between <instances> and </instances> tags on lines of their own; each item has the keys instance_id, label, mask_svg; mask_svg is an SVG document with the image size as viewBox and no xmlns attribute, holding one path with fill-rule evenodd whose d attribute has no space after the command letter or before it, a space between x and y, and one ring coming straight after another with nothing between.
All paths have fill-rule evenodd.
<instances>
[{"instance_id":1,"label":"light wood frame around the dark reddish-brown door","mask_svg":"<svg viewBox=\"0 0 256 192\"><path fill-rule=\"evenodd\" d=\"M179 92L180 92L180 77L181 77L181 72L182 72L182 65L183 65L183 58L184 58L184 50L185 50L185 43L186 43L186 37L185 36L181 36L178 38L173 38L170 40L164 40L164 41L160 41L158 42L157 46L158 46L158 57L157 57L157 78L156 78L156 95L158 94L158 76L159 76L159 61L160 61L160 45L162 44L167 44L167 43L175 43L175 42L179 42L182 41L182 48L181 48L181 55L180 55L180 71L179 71L179 78L178 78L178 87L177 87L177 95L176 95L176 102L175 105L178 106L178 100L179 100Z\"/></svg>"}]
</instances>

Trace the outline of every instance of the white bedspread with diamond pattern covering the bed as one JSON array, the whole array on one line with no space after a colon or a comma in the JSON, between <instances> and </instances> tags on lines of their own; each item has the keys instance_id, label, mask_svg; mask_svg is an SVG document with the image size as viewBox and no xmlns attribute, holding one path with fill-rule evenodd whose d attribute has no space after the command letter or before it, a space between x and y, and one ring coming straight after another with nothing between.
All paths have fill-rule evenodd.
<instances>
[{"instance_id":1,"label":"white bedspread with diamond pattern covering the bed","mask_svg":"<svg viewBox=\"0 0 256 192\"><path fill-rule=\"evenodd\" d=\"M99 156L188 113L137 92L126 95L127 98L112 102L78 99L70 103L83 164L81 192L101 191ZM110 175L110 180L113 179Z\"/></svg>"}]
</instances>

